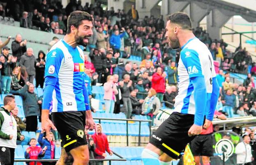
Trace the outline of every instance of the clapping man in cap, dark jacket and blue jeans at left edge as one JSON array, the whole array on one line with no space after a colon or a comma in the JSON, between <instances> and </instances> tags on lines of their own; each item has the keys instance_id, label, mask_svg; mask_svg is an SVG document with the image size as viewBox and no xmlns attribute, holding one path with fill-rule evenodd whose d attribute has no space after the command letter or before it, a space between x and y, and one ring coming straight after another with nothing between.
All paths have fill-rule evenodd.
<instances>
[{"instance_id":1,"label":"clapping man in cap, dark jacket and blue jeans at left edge","mask_svg":"<svg viewBox=\"0 0 256 165\"><path fill-rule=\"evenodd\" d=\"M2 69L1 69L1 83L2 83L2 94L8 94L11 90L11 72L16 66L17 57L9 55L9 47L3 47L2 54Z\"/></svg>"}]
</instances>

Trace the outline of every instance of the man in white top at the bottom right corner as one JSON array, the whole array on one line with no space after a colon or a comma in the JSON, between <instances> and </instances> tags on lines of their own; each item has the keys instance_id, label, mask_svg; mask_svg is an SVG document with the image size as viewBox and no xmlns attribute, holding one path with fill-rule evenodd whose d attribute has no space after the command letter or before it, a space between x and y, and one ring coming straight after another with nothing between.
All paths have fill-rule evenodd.
<instances>
[{"instance_id":1,"label":"man in white top at the bottom right corner","mask_svg":"<svg viewBox=\"0 0 256 165\"><path fill-rule=\"evenodd\" d=\"M251 154L250 137L248 135L243 136L244 141L238 143L235 147L235 154L237 154L236 161L238 165L252 165L253 157ZM245 163L245 164L243 164Z\"/></svg>"}]
</instances>

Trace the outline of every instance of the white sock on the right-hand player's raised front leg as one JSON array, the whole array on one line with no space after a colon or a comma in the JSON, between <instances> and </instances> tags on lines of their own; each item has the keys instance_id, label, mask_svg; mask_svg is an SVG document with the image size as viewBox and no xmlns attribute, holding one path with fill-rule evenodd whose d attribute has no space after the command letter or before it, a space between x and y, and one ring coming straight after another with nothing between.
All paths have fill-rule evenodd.
<instances>
[{"instance_id":1,"label":"white sock on the right-hand player's raised front leg","mask_svg":"<svg viewBox=\"0 0 256 165\"><path fill-rule=\"evenodd\" d=\"M143 149L142 162L144 165L160 165L159 155L149 149Z\"/></svg>"}]
</instances>

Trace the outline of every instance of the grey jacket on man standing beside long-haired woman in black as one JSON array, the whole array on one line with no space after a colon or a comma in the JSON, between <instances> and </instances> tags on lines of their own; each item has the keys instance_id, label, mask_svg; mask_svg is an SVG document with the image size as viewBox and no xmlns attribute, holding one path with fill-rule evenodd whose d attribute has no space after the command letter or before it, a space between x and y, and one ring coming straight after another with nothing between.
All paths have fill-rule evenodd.
<instances>
[{"instance_id":1,"label":"grey jacket on man standing beside long-haired woman in black","mask_svg":"<svg viewBox=\"0 0 256 165\"><path fill-rule=\"evenodd\" d=\"M28 75L35 75L36 68L35 68L36 58L34 55L28 56L27 53L24 53L21 56L20 65L21 67L26 67Z\"/></svg>"}]
</instances>

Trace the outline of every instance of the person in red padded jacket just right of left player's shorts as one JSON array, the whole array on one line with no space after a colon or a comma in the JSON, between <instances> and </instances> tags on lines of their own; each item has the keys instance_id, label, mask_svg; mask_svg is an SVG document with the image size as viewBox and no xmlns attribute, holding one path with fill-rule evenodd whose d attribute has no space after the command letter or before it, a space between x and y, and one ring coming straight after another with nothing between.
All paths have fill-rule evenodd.
<instances>
[{"instance_id":1,"label":"person in red padded jacket just right of left player's shorts","mask_svg":"<svg viewBox=\"0 0 256 165\"><path fill-rule=\"evenodd\" d=\"M97 126L97 132L98 135L95 133L91 137L94 140L94 144L96 145L96 148L94 150L94 158L96 159L104 159L107 157L107 154L105 151L107 151L110 155L113 154L113 152L110 150L108 146L107 136L102 133L102 127L101 124L96 124ZM103 162L96 162L97 165L103 165Z\"/></svg>"}]
</instances>

